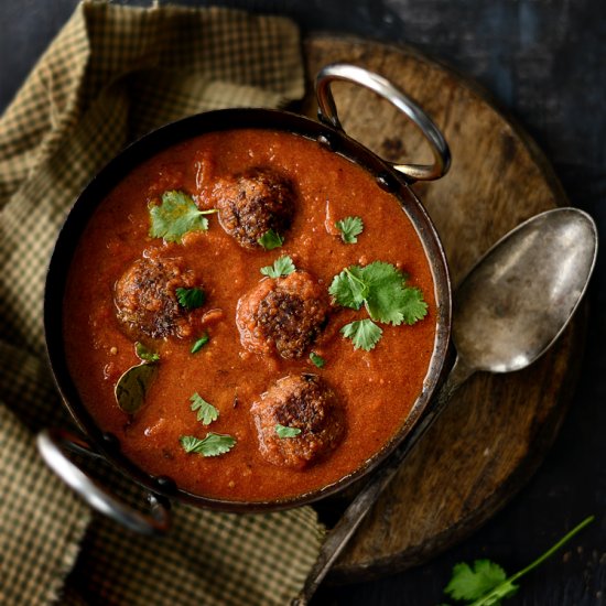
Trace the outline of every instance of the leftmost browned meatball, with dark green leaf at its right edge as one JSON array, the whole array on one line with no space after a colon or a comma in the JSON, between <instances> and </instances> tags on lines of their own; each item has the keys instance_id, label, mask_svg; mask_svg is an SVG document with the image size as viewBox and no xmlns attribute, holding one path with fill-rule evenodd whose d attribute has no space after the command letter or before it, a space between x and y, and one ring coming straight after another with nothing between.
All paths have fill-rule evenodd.
<instances>
[{"instance_id":1,"label":"leftmost browned meatball, with dark green leaf at its right edge","mask_svg":"<svg viewBox=\"0 0 606 606\"><path fill-rule=\"evenodd\" d=\"M154 253L136 260L116 283L117 317L129 335L163 338L192 335L193 314L180 305L176 289L201 288L183 259Z\"/></svg>"}]
</instances>

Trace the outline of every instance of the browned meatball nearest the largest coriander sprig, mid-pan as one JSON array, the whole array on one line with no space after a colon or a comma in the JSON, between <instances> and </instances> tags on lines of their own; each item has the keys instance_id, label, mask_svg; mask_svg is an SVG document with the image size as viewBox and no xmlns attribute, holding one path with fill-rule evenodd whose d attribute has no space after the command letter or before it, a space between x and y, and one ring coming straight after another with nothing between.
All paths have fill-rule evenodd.
<instances>
[{"instance_id":1,"label":"browned meatball nearest the largest coriander sprig, mid-pan","mask_svg":"<svg viewBox=\"0 0 606 606\"><path fill-rule=\"evenodd\" d=\"M257 354L301 358L322 331L328 307L325 289L305 271L262 280L238 301L241 344Z\"/></svg>"}]
</instances>

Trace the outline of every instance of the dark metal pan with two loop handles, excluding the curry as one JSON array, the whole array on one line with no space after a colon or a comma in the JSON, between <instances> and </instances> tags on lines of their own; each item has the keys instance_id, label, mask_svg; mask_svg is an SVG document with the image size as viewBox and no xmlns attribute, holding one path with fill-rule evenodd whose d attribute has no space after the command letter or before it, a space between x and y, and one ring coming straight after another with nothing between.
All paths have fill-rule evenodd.
<instances>
[{"instance_id":1,"label":"dark metal pan with two loop handles, excluding the curry","mask_svg":"<svg viewBox=\"0 0 606 606\"><path fill-rule=\"evenodd\" d=\"M348 137L338 121L329 85L334 80L353 82L370 88L404 111L426 137L434 155L434 163L432 165L394 165ZM134 530L148 533L165 530L170 520L169 499L218 510L251 512L309 504L343 490L375 469L402 442L426 411L432 393L442 378L450 344L451 282L440 238L410 185L418 180L433 180L442 176L450 164L448 148L437 128L413 101L385 78L360 67L347 64L324 67L316 78L316 95L320 121L279 110L225 109L192 116L144 136L123 150L93 178L75 202L61 229L46 277L44 299L46 348L63 401L84 437L75 436L64 430L46 430L39 435L39 448L46 463L91 506ZM104 433L82 402L67 368L63 340L63 294L68 268L87 221L109 192L134 166L166 148L203 133L245 128L284 130L318 141L334 153L344 155L372 174L381 187L400 201L404 213L419 234L430 261L437 309L434 350L422 392L414 402L407 421L389 443L366 461L360 468L329 486L291 498L252 504L220 500L187 493L180 489L171 478L151 476L127 458L120 452L119 440L112 434ZM149 491L150 515L137 512L109 495L88 478L67 456L66 450L102 457L116 469L145 488Z\"/></svg>"}]
</instances>

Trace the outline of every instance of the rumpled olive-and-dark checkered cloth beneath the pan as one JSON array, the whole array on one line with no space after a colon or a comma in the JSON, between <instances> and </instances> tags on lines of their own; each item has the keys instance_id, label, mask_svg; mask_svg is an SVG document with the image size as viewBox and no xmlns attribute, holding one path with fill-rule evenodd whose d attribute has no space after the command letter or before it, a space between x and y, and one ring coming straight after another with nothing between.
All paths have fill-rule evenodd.
<instances>
[{"instance_id":1,"label":"rumpled olive-and-dark checkered cloth beneath the pan","mask_svg":"<svg viewBox=\"0 0 606 606\"><path fill-rule=\"evenodd\" d=\"M33 439L69 423L44 361L42 300L78 192L154 127L302 95L299 32L285 19L85 2L0 120L1 604L279 605L303 585L323 537L313 509L176 505L170 535L137 535L93 513Z\"/></svg>"}]
</instances>

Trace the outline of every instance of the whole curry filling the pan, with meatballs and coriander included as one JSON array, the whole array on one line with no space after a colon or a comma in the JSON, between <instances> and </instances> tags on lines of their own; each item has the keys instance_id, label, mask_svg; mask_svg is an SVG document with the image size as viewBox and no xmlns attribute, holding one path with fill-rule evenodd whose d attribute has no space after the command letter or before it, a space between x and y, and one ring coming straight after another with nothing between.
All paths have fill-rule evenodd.
<instances>
[{"instance_id":1,"label":"whole curry filling the pan, with meatballs and coriander included","mask_svg":"<svg viewBox=\"0 0 606 606\"><path fill-rule=\"evenodd\" d=\"M63 324L83 402L132 462L259 502L329 486L389 442L435 323L399 201L315 141L250 129L180 143L115 187Z\"/></svg>"}]
</instances>

